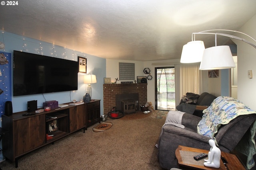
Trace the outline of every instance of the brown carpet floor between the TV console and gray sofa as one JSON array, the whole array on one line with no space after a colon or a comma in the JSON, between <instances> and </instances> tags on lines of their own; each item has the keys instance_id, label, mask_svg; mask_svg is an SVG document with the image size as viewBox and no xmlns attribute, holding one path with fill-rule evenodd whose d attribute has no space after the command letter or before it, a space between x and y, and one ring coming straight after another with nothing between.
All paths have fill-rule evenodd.
<instances>
[{"instance_id":1,"label":"brown carpet floor between the TV console and gray sofa","mask_svg":"<svg viewBox=\"0 0 256 170\"><path fill-rule=\"evenodd\" d=\"M70 134L54 145L34 150L15 163L0 163L2 170L162 170L155 144L165 119L109 119L110 129L95 133L94 125Z\"/></svg>"}]
</instances>

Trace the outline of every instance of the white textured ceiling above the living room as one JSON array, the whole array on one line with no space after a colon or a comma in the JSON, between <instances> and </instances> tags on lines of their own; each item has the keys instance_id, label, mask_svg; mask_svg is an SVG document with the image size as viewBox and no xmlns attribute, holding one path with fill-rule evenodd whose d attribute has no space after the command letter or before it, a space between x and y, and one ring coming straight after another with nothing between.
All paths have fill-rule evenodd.
<instances>
[{"instance_id":1,"label":"white textured ceiling above the living room","mask_svg":"<svg viewBox=\"0 0 256 170\"><path fill-rule=\"evenodd\" d=\"M179 59L193 32L238 30L255 0L18 0L0 6L4 31L107 59ZM206 47L214 37L199 36ZM211 42L211 43L208 43ZM227 39L220 37L219 45Z\"/></svg>"}]
</instances>

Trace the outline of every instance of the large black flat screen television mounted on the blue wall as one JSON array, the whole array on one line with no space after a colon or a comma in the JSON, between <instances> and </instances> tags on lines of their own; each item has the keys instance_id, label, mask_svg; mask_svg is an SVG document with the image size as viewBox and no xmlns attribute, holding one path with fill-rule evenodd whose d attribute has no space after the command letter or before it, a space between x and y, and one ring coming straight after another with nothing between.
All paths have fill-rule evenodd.
<instances>
[{"instance_id":1,"label":"large black flat screen television mounted on the blue wall","mask_svg":"<svg viewBox=\"0 0 256 170\"><path fill-rule=\"evenodd\" d=\"M77 61L13 53L13 96L77 90L77 82Z\"/></svg>"}]
</instances>

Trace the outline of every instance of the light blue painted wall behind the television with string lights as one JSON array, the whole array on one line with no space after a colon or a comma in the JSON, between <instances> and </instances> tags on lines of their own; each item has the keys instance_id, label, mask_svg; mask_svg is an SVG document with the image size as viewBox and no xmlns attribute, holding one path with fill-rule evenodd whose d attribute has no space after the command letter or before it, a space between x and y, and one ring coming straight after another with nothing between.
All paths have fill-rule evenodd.
<instances>
[{"instance_id":1,"label":"light blue painted wall behind the television with string lights","mask_svg":"<svg viewBox=\"0 0 256 170\"><path fill-rule=\"evenodd\" d=\"M46 43L44 41L39 41L36 39L31 39L28 37L23 37L20 35L16 35L8 32L1 32L0 42L5 44L4 49L0 49L0 52L10 53L9 56L9 65L8 72L5 70L6 80L5 86L8 89L8 100L12 101L13 112L26 111L27 110L27 102L31 100L37 100L38 107L42 106L43 102L49 100L57 100L59 104L72 102L73 100L80 101L83 98L87 85L83 83L83 76L85 74L78 73L78 90L71 92L55 92L55 93L46 93L35 94L35 95L27 95L27 96L13 96L12 95L12 67L13 67L13 51L24 51L27 53L34 53L40 55L46 55L50 57L56 57L67 60L78 61L78 56L87 58L87 74L95 74L97 78L97 83L91 84L92 86L92 98L101 100L101 114L103 115L103 86L104 77L106 77L106 59L96 57L93 55L88 55L86 53L81 53L78 51L74 51L72 49L66 49L64 47L56 46L51 43ZM0 66L2 70L3 67L7 65ZM5 68L6 69L6 68ZM2 80L4 76L0 76L0 80ZM0 86L1 88L2 86ZM2 87L3 88L3 87ZM2 89L1 88L1 89ZM6 89L6 88L4 88ZM6 93L7 94L7 93ZM7 99L3 100L3 97L6 94L0 95L0 105L7 101ZM2 109L0 107L0 109ZM2 110L1 114L2 113ZM3 110L4 111L4 110Z\"/></svg>"}]
</instances>

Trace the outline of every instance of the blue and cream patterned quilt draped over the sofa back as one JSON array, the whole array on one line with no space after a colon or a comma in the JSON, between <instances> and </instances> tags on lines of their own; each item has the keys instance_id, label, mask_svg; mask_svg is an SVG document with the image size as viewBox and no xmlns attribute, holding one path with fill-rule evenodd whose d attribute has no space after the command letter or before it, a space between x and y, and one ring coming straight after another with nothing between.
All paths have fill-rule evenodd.
<instances>
[{"instance_id":1,"label":"blue and cream patterned quilt draped over the sofa back","mask_svg":"<svg viewBox=\"0 0 256 170\"><path fill-rule=\"evenodd\" d=\"M214 135L218 132L218 128L221 125L228 124L232 119L239 115L256 114L255 111L245 106L239 100L227 96L219 96L216 98L210 107L204 109L203 113L202 120L197 126L197 132L214 139L216 145L218 145L218 143L216 142ZM254 166L253 155L256 154L254 141L255 129L256 123L254 122L254 125L251 128L250 146L248 146L248 153L246 153L246 155L248 155L247 167Z\"/></svg>"}]
</instances>

